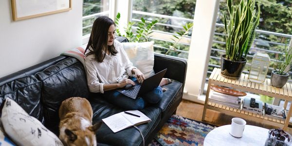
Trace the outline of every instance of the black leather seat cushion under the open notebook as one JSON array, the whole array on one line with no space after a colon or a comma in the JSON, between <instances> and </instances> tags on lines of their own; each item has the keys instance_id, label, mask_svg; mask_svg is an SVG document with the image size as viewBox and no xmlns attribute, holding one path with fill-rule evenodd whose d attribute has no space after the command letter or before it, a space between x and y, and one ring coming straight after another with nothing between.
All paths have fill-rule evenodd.
<instances>
[{"instance_id":1,"label":"black leather seat cushion under the open notebook","mask_svg":"<svg viewBox=\"0 0 292 146\"><path fill-rule=\"evenodd\" d=\"M93 124L101 121L101 119L109 117L113 114L124 111L123 109L111 105L100 97L90 97L89 101L93 110ZM138 125L137 127L143 133L145 139L156 128L161 119L161 110L156 107L146 107L143 112L151 119L151 122ZM143 139L137 129L134 127L123 129L122 131L113 133L106 124L98 129L96 133L98 143L108 144L112 146L141 146Z\"/></svg>"}]
</instances>

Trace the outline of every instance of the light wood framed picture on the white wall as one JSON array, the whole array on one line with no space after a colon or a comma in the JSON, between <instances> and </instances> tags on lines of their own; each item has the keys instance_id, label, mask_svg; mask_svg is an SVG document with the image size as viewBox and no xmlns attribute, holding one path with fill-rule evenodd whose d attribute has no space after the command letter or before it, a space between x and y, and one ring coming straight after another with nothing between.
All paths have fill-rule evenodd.
<instances>
[{"instance_id":1,"label":"light wood framed picture on the white wall","mask_svg":"<svg viewBox=\"0 0 292 146\"><path fill-rule=\"evenodd\" d=\"M13 20L22 20L69 11L72 0L11 0Z\"/></svg>"}]
</instances>

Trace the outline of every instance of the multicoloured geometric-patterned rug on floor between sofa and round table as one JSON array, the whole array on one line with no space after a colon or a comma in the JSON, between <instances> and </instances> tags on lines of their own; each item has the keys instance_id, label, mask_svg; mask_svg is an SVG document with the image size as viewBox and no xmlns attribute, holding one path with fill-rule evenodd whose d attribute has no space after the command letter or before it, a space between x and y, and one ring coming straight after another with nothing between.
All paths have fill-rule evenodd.
<instances>
[{"instance_id":1,"label":"multicoloured geometric-patterned rug on floor between sofa and round table","mask_svg":"<svg viewBox=\"0 0 292 146\"><path fill-rule=\"evenodd\" d=\"M203 146L206 135L214 128L217 127L172 115L148 146Z\"/></svg>"}]
</instances>

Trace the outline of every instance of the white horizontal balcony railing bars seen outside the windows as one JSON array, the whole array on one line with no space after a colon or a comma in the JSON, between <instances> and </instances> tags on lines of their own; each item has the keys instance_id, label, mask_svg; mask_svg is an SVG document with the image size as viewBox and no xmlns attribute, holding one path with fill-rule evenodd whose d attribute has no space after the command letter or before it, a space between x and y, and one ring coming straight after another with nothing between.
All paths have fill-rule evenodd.
<instances>
[{"instance_id":1,"label":"white horizontal balcony railing bars seen outside the windows","mask_svg":"<svg viewBox=\"0 0 292 146\"><path fill-rule=\"evenodd\" d=\"M93 14L90 16L85 16L83 17L83 20L85 19L89 19L89 18L94 18L100 15L108 15L109 11L106 12L101 12L101 13L97 13L97 14ZM132 11L133 15L139 15L139 16L143 16L143 17L151 17L151 18L162 18L162 19L172 19L172 20L179 20L179 21L185 21L185 22L193 22L193 19L189 19L189 18L180 18L180 17L173 17L173 16L166 16L166 15L160 15L160 14L153 14L153 13L148 13L148 12L142 12L142 11ZM141 21L140 19L137 18L132 18L132 21ZM182 29L182 26L178 26L178 25L174 25L174 24L166 24L166 23L156 23L157 26L165 26L165 27L172 27L175 29ZM83 29L87 29L92 27L92 25L88 25L88 26L84 26ZM213 38L213 45L214 44L221 44L224 45L225 42L224 40L217 40L216 37L224 37L225 34L222 31L218 31L218 28L223 28L224 24L219 24L216 23L216 28L215 28L215 33L214 33L214 38ZM133 29L135 29L137 27L133 26ZM156 34L160 34L160 35L164 35L164 36L172 36L172 35L177 35L175 33L171 33L171 32L164 32L164 31L160 31L160 30L153 30L154 33ZM153 33L153 34L154 34ZM262 39L260 36L274 36L274 37L284 37L287 38L288 40L291 41L292 43L292 35L287 35L287 34L281 34L281 33L275 33L275 32L269 32L269 31L263 31L263 30L256 30L256 39L254 40L254 44L250 49L250 52L264 52L264 53L268 53L270 55L277 55L277 54L283 54L282 52L273 50L273 48L275 48L276 46L285 46L284 43L281 42L274 42L274 41L269 41L269 40L264 40ZM153 35L153 37L151 37L152 40L154 41L164 41L164 42L173 42L169 37L157 37L157 35ZM190 40L191 37L185 37L185 39ZM186 42L180 42L180 44L185 45L186 47L190 46L190 41L186 41ZM291 44L290 43L290 44ZM163 49L165 51L168 50L168 48L161 46L161 45L154 45L155 49ZM219 49L219 48L211 48L212 52L217 52L218 54L224 54L225 53L225 49ZM188 50L177 50L177 52L181 52L184 54L188 54ZM253 53L252 53L253 54ZM253 55L247 55L248 60L251 60L251 58L253 57ZM184 58L187 59L187 58ZM210 56L210 59L215 59L217 60L218 64L212 64L209 63L208 67L211 68L209 71L207 71L208 74L210 74L212 72L212 68L217 67L220 68L219 66L219 62L220 62L220 56ZM271 58L271 61L275 61L274 58ZM248 62L246 64L246 67L249 67L250 63ZM273 70L272 67L269 68L269 70ZM244 71L244 73L248 73L247 71ZM292 72L290 72L292 73ZM209 76L209 75L208 75ZM270 77L269 75L267 77ZM208 80L208 77L206 78L206 80ZM289 80L289 82L292 82L292 80Z\"/></svg>"}]
</instances>

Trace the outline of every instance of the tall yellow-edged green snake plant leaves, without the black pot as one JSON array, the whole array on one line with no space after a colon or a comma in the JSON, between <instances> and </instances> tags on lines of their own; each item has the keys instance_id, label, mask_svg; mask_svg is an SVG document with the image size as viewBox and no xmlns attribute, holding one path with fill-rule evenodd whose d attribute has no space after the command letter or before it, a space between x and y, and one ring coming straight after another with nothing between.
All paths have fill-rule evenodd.
<instances>
[{"instance_id":1,"label":"tall yellow-edged green snake plant leaves, without the black pot","mask_svg":"<svg viewBox=\"0 0 292 146\"><path fill-rule=\"evenodd\" d=\"M230 20L227 23L224 14L225 58L232 61L244 61L255 38L260 7L258 4L256 14L255 0L241 0L238 6L233 5L233 0L227 0L227 6Z\"/></svg>"}]
</instances>

